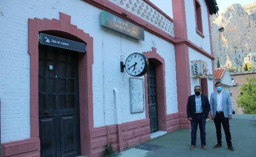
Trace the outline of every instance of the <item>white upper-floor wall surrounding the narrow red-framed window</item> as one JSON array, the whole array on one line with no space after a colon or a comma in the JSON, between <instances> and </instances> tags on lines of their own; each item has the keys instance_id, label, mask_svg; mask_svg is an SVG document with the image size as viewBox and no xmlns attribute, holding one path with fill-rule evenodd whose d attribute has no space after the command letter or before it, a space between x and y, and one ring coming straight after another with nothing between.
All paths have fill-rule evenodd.
<instances>
[{"instance_id":1,"label":"white upper-floor wall surrounding the narrow red-framed window","mask_svg":"<svg viewBox=\"0 0 256 157\"><path fill-rule=\"evenodd\" d=\"M194 0L185 0L187 39L196 44L197 46L202 47L203 50L205 50L206 52L211 53L210 37L206 37L210 34L208 25L207 5L205 0L199 0L199 2L201 4L203 35L205 36L205 38L202 38L200 35L198 35L196 31Z\"/></svg>"}]
</instances>

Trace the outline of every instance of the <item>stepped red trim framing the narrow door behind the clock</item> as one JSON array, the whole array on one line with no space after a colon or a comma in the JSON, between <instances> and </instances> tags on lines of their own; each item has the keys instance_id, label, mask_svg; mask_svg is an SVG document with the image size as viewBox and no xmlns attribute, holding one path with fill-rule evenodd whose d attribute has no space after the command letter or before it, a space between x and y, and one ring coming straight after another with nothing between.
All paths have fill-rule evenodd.
<instances>
[{"instance_id":1,"label":"stepped red trim framing the narrow door behind the clock","mask_svg":"<svg viewBox=\"0 0 256 157\"><path fill-rule=\"evenodd\" d=\"M153 62L156 65L156 84L157 84L157 100L158 100L158 129L166 131L166 96L165 96L165 60L156 53L155 47L152 47L152 51L143 52L148 58L149 62ZM149 101L148 101L148 75L144 75L145 79L145 97L146 97L146 118L149 118Z\"/></svg>"}]
</instances>

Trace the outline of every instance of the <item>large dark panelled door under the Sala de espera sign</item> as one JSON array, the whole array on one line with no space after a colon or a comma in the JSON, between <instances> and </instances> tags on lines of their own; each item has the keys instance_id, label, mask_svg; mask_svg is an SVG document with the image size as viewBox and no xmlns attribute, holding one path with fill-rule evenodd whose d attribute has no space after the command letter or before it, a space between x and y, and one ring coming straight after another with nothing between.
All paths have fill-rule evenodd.
<instances>
[{"instance_id":1,"label":"large dark panelled door under the Sala de espera sign","mask_svg":"<svg viewBox=\"0 0 256 157\"><path fill-rule=\"evenodd\" d=\"M39 138L41 157L80 154L78 53L39 45Z\"/></svg>"}]
</instances>

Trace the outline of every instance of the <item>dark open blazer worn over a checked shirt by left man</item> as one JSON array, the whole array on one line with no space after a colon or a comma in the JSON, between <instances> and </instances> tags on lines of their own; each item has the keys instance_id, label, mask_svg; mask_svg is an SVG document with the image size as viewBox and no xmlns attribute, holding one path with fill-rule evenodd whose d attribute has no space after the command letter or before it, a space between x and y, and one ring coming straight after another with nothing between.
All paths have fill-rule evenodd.
<instances>
[{"instance_id":1,"label":"dark open blazer worn over a checked shirt by left man","mask_svg":"<svg viewBox=\"0 0 256 157\"><path fill-rule=\"evenodd\" d=\"M201 94L201 102L202 102L202 108L203 108L203 115L204 117L207 117L210 111L209 100L205 95ZM196 112L196 96L190 95L187 99L187 118L192 117L192 119L194 119L196 115L195 112Z\"/></svg>"}]
</instances>

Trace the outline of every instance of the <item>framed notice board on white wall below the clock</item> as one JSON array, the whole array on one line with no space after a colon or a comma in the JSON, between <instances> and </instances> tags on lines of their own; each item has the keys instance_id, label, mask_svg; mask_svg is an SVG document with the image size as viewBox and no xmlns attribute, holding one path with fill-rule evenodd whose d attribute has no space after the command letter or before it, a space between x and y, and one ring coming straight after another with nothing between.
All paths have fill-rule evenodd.
<instances>
[{"instance_id":1,"label":"framed notice board on white wall below the clock","mask_svg":"<svg viewBox=\"0 0 256 157\"><path fill-rule=\"evenodd\" d=\"M130 77L130 112L144 112L145 97L144 97L144 79Z\"/></svg>"}]
</instances>

